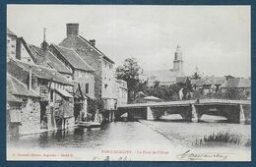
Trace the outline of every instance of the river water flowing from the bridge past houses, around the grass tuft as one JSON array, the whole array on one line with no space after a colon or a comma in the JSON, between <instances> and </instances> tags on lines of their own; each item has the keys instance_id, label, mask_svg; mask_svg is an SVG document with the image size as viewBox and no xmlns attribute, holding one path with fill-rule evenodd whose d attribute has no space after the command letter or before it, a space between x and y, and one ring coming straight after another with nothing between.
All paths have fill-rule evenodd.
<instances>
[{"instance_id":1,"label":"river water flowing from the bridge past houses, around the grass tuft","mask_svg":"<svg viewBox=\"0 0 256 167\"><path fill-rule=\"evenodd\" d=\"M238 144L203 144L197 140L212 134L227 132L240 138ZM100 129L70 128L65 131L47 132L11 139L11 148L28 149L78 149L78 150L170 150L182 148L212 148L221 146L222 149L232 147L244 150L250 154L251 126L240 124L220 123L213 119L205 119L200 123L188 123L181 120L139 122L112 122Z\"/></svg>"}]
</instances>

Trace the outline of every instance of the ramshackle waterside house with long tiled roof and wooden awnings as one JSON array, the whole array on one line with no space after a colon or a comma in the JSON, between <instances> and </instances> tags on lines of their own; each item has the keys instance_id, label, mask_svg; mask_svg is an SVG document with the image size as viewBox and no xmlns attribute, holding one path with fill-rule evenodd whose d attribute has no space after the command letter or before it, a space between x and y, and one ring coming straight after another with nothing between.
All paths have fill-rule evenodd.
<instances>
[{"instance_id":1,"label":"ramshackle waterside house with long tiled roof and wooden awnings","mask_svg":"<svg viewBox=\"0 0 256 167\"><path fill-rule=\"evenodd\" d=\"M54 69L20 60L11 59L7 64L7 71L39 95L42 132L74 126L73 83Z\"/></svg>"}]
</instances>

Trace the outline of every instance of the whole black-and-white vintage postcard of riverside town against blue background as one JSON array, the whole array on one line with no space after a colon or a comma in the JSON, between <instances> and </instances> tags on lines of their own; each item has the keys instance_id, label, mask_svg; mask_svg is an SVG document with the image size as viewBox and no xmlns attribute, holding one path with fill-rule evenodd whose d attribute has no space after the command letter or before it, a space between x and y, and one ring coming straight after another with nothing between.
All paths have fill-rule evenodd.
<instances>
[{"instance_id":1,"label":"whole black-and-white vintage postcard of riverside town against blue background","mask_svg":"<svg viewBox=\"0 0 256 167\"><path fill-rule=\"evenodd\" d=\"M251 161L251 8L7 5L7 160Z\"/></svg>"}]
</instances>

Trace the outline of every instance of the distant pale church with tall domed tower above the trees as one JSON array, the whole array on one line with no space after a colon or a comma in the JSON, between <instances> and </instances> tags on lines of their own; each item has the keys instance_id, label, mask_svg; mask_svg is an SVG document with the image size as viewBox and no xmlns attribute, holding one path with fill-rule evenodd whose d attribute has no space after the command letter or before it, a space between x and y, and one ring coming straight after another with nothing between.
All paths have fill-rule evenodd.
<instances>
[{"instance_id":1,"label":"distant pale church with tall domed tower above the trees","mask_svg":"<svg viewBox=\"0 0 256 167\"><path fill-rule=\"evenodd\" d=\"M139 79L142 82L148 82L150 87L154 86L156 82L159 82L159 85L169 86L170 84L177 83L177 78L184 77L183 69L181 46L177 45L174 53L173 69L145 71L140 74Z\"/></svg>"}]
</instances>

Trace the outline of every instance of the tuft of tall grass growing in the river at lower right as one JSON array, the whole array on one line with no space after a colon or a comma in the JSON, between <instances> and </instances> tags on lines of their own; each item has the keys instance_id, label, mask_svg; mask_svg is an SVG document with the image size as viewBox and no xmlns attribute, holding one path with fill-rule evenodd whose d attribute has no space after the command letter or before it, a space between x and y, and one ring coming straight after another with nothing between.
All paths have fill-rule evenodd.
<instances>
[{"instance_id":1,"label":"tuft of tall grass growing in the river at lower right","mask_svg":"<svg viewBox=\"0 0 256 167\"><path fill-rule=\"evenodd\" d=\"M209 136L204 136L203 139L196 139L193 145L209 145L209 144L236 144L250 146L251 139L244 141L241 135L230 132L213 133Z\"/></svg>"}]
</instances>

